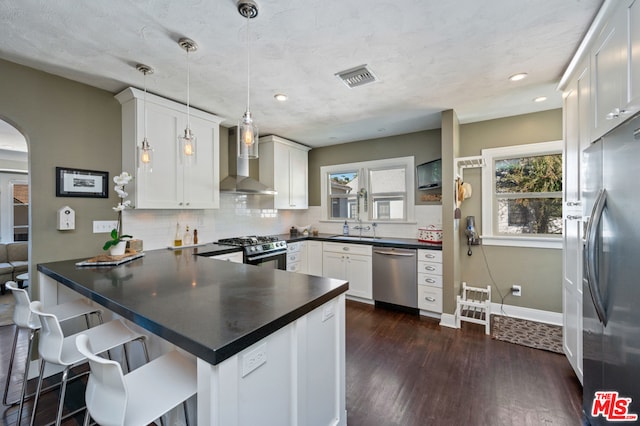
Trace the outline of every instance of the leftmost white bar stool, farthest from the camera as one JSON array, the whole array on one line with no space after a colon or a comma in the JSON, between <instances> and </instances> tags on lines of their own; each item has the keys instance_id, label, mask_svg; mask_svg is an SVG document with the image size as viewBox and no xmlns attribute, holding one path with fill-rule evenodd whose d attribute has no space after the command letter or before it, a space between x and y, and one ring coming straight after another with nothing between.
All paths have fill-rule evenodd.
<instances>
[{"instance_id":1,"label":"leftmost white bar stool, farthest from the camera","mask_svg":"<svg viewBox=\"0 0 640 426\"><path fill-rule=\"evenodd\" d=\"M11 348L11 357L9 359L9 371L7 372L7 380L4 386L4 395L2 397L2 404L5 406L12 406L19 404L20 408L18 409L18 423L22 419L22 408L24 405L24 401L26 398L32 395L26 395L27 391L27 380L29 377L29 364L31 361L31 353L33 352L33 339L40 330L40 320L36 315L31 313L29 309L29 304L31 300L29 299L29 293L26 290L19 288L18 284L14 281L7 281L6 283L7 289L11 291L13 297L16 301L14 310L13 310L13 322L16 325L16 331L13 335L13 347ZM98 321L102 323L102 310L91 306L88 302L84 300L74 300L72 302L63 303L61 305L55 306L47 306L43 308L45 312L54 314L58 317L59 321L66 321L72 318L79 318L81 316L85 317L85 321L87 322L87 328L90 327L89 316L97 315ZM16 355L16 347L18 343L18 334L20 334L20 330L29 330L29 346L27 349L27 358L25 360L24 374L22 376L22 391L20 392L20 399L14 402L7 402L7 394L9 393L9 385L11 383L11 373L13 372L13 364Z\"/></svg>"}]
</instances>

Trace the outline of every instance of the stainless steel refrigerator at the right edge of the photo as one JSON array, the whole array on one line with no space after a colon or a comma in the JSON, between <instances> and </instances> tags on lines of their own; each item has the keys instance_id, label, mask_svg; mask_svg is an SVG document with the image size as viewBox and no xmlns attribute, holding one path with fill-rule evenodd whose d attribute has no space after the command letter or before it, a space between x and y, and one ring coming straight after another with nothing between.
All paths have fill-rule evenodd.
<instances>
[{"instance_id":1,"label":"stainless steel refrigerator at the right edge of the photo","mask_svg":"<svg viewBox=\"0 0 640 426\"><path fill-rule=\"evenodd\" d=\"M640 415L640 116L583 156L583 410L619 424Z\"/></svg>"}]
</instances>

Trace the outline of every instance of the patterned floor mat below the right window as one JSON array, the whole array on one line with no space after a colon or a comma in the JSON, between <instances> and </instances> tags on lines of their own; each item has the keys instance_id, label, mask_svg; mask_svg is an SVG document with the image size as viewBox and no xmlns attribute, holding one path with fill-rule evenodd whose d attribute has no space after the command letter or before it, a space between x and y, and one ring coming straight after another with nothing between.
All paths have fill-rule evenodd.
<instances>
[{"instance_id":1,"label":"patterned floor mat below the right window","mask_svg":"<svg viewBox=\"0 0 640 426\"><path fill-rule=\"evenodd\" d=\"M491 316L491 337L496 340L563 353L562 327L512 318Z\"/></svg>"}]
</instances>

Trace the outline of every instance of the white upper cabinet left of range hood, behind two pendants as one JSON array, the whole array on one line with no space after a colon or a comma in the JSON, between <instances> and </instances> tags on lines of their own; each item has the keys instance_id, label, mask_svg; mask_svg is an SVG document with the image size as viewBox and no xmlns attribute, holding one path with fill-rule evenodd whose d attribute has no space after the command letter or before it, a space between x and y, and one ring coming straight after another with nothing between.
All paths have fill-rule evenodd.
<instances>
[{"instance_id":1,"label":"white upper cabinet left of range hood, behind two pendants","mask_svg":"<svg viewBox=\"0 0 640 426\"><path fill-rule=\"evenodd\" d=\"M190 126L197 138L196 160L184 164L178 135L187 125L186 107L128 88L116 95L122 104L122 168L134 175L130 196L139 209L213 209L219 199L221 118L190 108ZM153 171L139 168L138 149L144 138L153 148ZM128 188L127 188L128 189Z\"/></svg>"}]
</instances>

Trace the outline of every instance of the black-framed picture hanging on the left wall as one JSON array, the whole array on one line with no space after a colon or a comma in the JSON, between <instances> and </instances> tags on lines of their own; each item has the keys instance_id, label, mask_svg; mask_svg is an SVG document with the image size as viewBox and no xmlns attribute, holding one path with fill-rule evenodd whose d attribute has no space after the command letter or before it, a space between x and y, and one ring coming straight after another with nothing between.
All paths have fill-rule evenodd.
<instances>
[{"instance_id":1,"label":"black-framed picture hanging on the left wall","mask_svg":"<svg viewBox=\"0 0 640 426\"><path fill-rule=\"evenodd\" d=\"M108 198L109 172L56 167L56 197Z\"/></svg>"}]
</instances>

